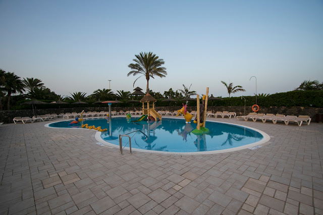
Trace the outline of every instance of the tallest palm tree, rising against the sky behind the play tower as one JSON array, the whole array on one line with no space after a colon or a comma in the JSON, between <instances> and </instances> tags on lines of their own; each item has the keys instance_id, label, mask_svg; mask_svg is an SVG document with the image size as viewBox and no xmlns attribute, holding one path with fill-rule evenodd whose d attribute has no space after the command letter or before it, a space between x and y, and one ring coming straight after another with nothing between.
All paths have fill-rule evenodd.
<instances>
[{"instance_id":1,"label":"tallest palm tree, rising against the sky behind the play tower","mask_svg":"<svg viewBox=\"0 0 323 215\"><path fill-rule=\"evenodd\" d=\"M160 78L166 77L167 72L165 67L161 67L161 65L165 64L163 59L158 59L159 57L154 55L152 52L146 53L141 52L139 55L135 55L137 59L133 59L136 64L129 64L128 67L132 69L127 76L130 75L138 75L145 76L147 80L146 93L149 90L149 79L154 78L153 76L158 76ZM141 77L139 76L134 82L133 86L135 86L135 82Z\"/></svg>"}]
</instances>

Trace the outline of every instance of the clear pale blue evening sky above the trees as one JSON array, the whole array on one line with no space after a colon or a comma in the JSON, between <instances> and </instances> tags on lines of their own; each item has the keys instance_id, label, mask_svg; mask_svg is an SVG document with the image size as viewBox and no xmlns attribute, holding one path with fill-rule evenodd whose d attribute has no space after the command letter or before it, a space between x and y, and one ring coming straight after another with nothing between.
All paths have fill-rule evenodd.
<instances>
[{"instance_id":1,"label":"clear pale blue evening sky above the trees","mask_svg":"<svg viewBox=\"0 0 323 215\"><path fill-rule=\"evenodd\" d=\"M323 81L322 0L0 0L0 29L0 69L66 96L145 92L145 77L133 86L139 76L127 74L149 51L167 68L149 80L160 93L192 84L228 97L225 81L247 96Z\"/></svg>"}]
</instances>

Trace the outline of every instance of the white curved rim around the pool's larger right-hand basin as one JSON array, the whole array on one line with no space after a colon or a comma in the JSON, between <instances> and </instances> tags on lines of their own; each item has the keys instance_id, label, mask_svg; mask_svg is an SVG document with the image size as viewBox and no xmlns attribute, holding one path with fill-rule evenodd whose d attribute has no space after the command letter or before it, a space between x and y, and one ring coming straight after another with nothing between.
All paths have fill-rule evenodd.
<instances>
[{"instance_id":1,"label":"white curved rim around the pool's larger right-hand basin","mask_svg":"<svg viewBox=\"0 0 323 215\"><path fill-rule=\"evenodd\" d=\"M164 118L168 118L168 117L164 117ZM168 118L168 119L173 119L173 118ZM206 120L206 122L216 122L216 121ZM247 145L238 146L238 147L234 147L234 148L228 148L228 149L222 149L222 150L213 150L213 151L168 152L168 151L145 150L145 149L138 149L138 148L131 148L131 150L132 151L139 151L139 152L158 153L158 154L173 154L173 155L219 154L219 153L227 153L227 152L239 151L239 150L242 150L242 149L246 149L246 148L254 147L254 146L257 146L257 145L261 145L261 144L264 144L264 143L268 142L271 139L271 137L267 133L265 133L263 131L260 131L260 130L258 130L256 128L251 128L251 127L248 127L248 126L242 126L242 125L233 124L233 123L224 123L224 122L216 122L216 123L229 124L229 125L235 125L235 126L239 126L239 127L248 128L248 129L251 129L251 130L259 132L263 136L263 138L261 140L257 141L257 142L250 143L250 144L247 144ZM115 145L115 144L112 144L112 143L109 143L109 142L106 142L105 140L103 140L101 138L101 132L99 132L99 131L97 131L95 133L95 139L99 143L101 143L103 145L106 145L106 146L115 147L115 148L120 147L119 145ZM129 147L124 147L124 149L130 150Z\"/></svg>"}]
</instances>

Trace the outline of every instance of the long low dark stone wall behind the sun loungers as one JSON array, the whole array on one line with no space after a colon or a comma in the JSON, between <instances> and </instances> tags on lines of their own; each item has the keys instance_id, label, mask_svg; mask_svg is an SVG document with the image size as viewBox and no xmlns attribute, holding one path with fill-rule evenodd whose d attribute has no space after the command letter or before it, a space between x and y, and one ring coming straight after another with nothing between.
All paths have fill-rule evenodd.
<instances>
[{"instance_id":1,"label":"long low dark stone wall behind the sun loungers","mask_svg":"<svg viewBox=\"0 0 323 215\"><path fill-rule=\"evenodd\" d=\"M181 109L182 106L158 106L156 107L156 111L177 111ZM84 110L85 112L100 112L100 111L109 111L108 106L104 107L96 107L96 108L65 108L65 109L35 109L36 115L45 115L45 114L60 114L60 113L80 113ZM141 110L140 106L135 108L129 107L114 107L112 105L112 111L135 111ZM188 106L188 111L196 111L196 106ZM243 116L244 112L246 114L252 112L251 106L246 106L246 110L244 106L208 106L208 111L213 111L213 113L217 111L229 111L229 112L236 112L237 116ZM310 107L291 107L287 108L284 106L272 106L272 107L260 107L258 113L271 113L271 114L284 114L284 115L308 115L312 118L312 122L316 121L316 114L323 114L323 108L310 108ZM0 112L0 122L4 123L13 123L14 117L32 117L33 111L32 110L17 110L17 111L1 111Z\"/></svg>"}]
</instances>

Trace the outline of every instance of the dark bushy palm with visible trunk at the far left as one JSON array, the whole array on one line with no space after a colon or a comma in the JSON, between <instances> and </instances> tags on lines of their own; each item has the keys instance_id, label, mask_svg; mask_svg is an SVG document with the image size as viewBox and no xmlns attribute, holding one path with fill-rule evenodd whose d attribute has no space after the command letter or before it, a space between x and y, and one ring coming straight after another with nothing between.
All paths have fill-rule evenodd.
<instances>
[{"instance_id":1,"label":"dark bushy palm with visible trunk at the far left","mask_svg":"<svg viewBox=\"0 0 323 215\"><path fill-rule=\"evenodd\" d=\"M13 72L5 73L5 85L4 91L7 92L8 102L7 102L7 110L10 110L10 97L12 94L23 93L24 84L22 83L19 76L15 75Z\"/></svg>"}]
</instances>

